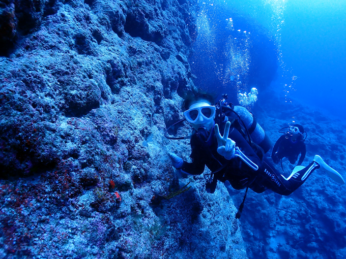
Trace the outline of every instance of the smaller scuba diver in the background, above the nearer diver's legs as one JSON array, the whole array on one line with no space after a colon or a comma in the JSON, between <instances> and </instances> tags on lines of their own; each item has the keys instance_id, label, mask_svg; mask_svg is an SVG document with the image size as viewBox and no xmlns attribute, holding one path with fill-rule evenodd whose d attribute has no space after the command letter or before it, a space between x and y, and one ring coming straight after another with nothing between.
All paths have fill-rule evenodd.
<instances>
[{"instance_id":1,"label":"smaller scuba diver in the background, above the nearer diver's legs","mask_svg":"<svg viewBox=\"0 0 346 259\"><path fill-rule=\"evenodd\" d=\"M306 133L304 128L300 124L294 124L290 127L285 127L288 131L281 132L284 128L281 128L280 133L284 133L275 143L272 151L272 159L275 164L279 163L279 160L282 161L283 157L287 157L290 160L290 163L294 165L300 155L297 166L300 166L303 163L306 154L306 147L303 138L303 134ZM307 136L307 134L306 134Z\"/></svg>"}]
</instances>

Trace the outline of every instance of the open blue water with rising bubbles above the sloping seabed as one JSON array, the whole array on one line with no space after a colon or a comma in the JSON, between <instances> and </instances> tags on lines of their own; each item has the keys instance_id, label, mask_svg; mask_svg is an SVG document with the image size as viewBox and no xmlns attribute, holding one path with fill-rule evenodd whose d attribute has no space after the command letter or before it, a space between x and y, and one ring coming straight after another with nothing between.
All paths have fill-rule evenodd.
<instances>
[{"instance_id":1,"label":"open blue water with rising bubbles above the sloping seabed","mask_svg":"<svg viewBox=\"0 0 346 259\"><path fill-rule=\"evenodd\" d=\"M261 98L273 89L346 119L346 1L198 4L199 36L190 60L197 86L228 92L235 103L237 92L256 87Z\"/></svg>"}]
</instances>

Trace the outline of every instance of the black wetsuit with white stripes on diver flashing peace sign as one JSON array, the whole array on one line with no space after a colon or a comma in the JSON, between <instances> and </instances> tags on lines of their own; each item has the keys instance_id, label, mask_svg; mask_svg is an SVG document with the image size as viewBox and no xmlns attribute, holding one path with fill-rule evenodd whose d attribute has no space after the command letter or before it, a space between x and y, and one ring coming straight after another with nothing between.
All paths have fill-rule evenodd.
<instances>
[{"instance_id":1,"label":"black wetsuit with white stripes on diver flashing peace sign","mask_svg":"<svg viewBox=\"0 0 346 259\"><path fill-rule=\"evenodd\" d=\"M220 128L221 136L223 136L223 131L224 124ZM209 135L205 131L193 132L190 142L192 163L184 161L181 170L191 175L199 175L204 172L205 166L207 166L213 173L212 182L207 183L206 186L211 193L215 191L218 180L221 182L228 180L235 189L244 189L248 186L257 193L271 189L280 195L290 195L304 183L314 169L319 168L318 164L312 162L308 167L286 180L269 164L266 158L261 161L244 137L231 125L228 138L234 140L236 146L258 166L259 169L254 171L238 156L230 160L225 159L217 152L218 144L214 128L212 129L212 136L209 137ZM307 174L302 180L306 172Z\"/></svg>"}]
</instances>

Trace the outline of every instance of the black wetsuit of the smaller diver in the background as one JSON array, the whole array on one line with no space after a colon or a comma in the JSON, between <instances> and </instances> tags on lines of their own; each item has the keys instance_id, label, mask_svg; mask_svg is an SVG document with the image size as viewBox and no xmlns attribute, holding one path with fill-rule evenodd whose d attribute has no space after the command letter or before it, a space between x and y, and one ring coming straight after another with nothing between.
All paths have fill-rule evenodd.
<instances>
[{"instance_id":1,"label":"black wetsuit of the smaller diver in the background","mask_svg":"<svg viewBox=\"0 0 346 259\"><path fill-rule=\"evenodd\" d=\"M306 154L306 147L302 137L298 137L296 141L292 141L290 134L282 135L275 143L272 151L274 163L278 163L283 157L287 157L293 165L301 154L297 166L303 163Z\"/></svg>"}]
</instances>

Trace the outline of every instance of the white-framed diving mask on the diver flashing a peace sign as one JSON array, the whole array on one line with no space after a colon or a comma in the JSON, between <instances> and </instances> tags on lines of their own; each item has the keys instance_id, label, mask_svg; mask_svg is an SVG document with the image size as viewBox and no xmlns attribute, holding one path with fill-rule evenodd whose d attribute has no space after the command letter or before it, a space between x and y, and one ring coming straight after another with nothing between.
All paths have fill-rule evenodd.
<instances>
[{"instance_id":1,"label":"white-framed diving mask on the diver flashing a peace sign","mask_svg":"<svg viewBox=\"0 0 346 259\"><path fill-rule=\"evenodd\" d=\"M190 106L190 109L184 112L186 120L194 124L203 124L214 119L216 113L215 106L200 102Z\"/></svg>"}]
</instances>

